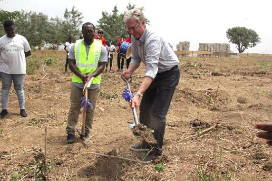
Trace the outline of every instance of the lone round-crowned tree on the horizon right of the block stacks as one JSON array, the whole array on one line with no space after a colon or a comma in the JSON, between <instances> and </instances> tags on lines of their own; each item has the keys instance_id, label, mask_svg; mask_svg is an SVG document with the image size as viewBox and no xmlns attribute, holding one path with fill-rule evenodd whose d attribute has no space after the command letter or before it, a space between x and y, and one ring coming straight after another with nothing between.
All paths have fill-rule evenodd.
<instances>
[{"instance_id":1,"label":"lone round-crowned tree on the horizon right of the block stacks","mask_svg":"<svg viewBox=\"0 0 272 181\"><path fill-rule=\"evenodd\" d=\"M227 30L227 39L237 45L236 48L239 53L243 53L245 49L254 47L261 42L261 38L254 30L245 27L229 28Z\"/></svg>"}]
</instances>

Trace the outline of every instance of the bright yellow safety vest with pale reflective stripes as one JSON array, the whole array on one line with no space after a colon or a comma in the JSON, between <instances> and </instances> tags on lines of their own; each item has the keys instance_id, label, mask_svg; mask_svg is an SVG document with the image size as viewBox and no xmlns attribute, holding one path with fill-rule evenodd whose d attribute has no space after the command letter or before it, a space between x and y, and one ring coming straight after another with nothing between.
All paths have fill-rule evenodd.
<instances>
[{"instance_id":1,"label":"bright yellow safety vest with pale reflective stripes","mask_svg":"<svg viewBox=\"0 0 272 181\"><path fill-rule=\"evenodd\" d=\"M92 73L97 69L98 66L98 60L101 55L101 43L98 40L93 39L87 59L86 48L83 41L84 39L79 39L75 42L74 52L76 59L76 67L82 74ZM92 80L91 84L100 84L100 81L101 74L96 76ZM73 74L72 82L83 83L82 79L76 74Z\"/></svg>"}]
</instances>

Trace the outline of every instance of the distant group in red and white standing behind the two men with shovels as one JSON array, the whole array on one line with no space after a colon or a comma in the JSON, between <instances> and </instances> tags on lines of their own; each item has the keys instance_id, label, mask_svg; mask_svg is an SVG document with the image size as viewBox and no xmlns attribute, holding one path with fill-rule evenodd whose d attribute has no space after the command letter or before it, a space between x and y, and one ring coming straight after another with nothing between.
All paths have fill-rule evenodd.
<instances>
[{"instance_id":1,"label":"distant group in red and white standing behind the two men with shovels","mask_svg":"<svg viewBox=\"0 0 272 181\"><path fill-rule=\"evenodd\" d=\"M97 31L97 34L94 35L94 39L100 40L101 44L106 47L106 50L108 52L108 62L107 62L106 67L105 67L105 72L108 72L108 65L110 67L109 68L109 72L112 72L112 61L113 61L113 55L114 55L114 52L115 52L115 46L114 46L114 44L111 41L106 40L103 37L103 30L102 29L99 29ZM120 55L120 53L119 53L121 44L123 42L132 43L132 41L131 41L131 34L129 34L128 37L126 37L125 34L122 34L122 36L117 40L116 44L117 44L118 48L116 50L116 53L117 53L117 71L118 72L124 70L125 58L122 57ZM71 48L72 44L73 44L73 42L72 42L72 36L69 36L68 37L68 41L65 42L65 44L64 44L64 50L67 53L66 63L65 63L65 72L67 72L68 56L69 56L69 51L70 51L70 48ZM126 68L127 69L129 68L130 62L131 62L131 58L126 59Z\"/></svg>"}]
</instances>

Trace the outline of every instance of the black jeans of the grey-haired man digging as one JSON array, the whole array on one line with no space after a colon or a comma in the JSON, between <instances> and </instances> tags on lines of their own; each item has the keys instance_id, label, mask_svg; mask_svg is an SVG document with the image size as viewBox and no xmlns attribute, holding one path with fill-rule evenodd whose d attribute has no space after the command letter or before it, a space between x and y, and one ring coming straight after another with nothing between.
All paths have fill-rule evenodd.
<instances>
[{"instance_id":1,"label":"black jeans of the grey-haired man digging","mask_svg":"<svg viewBox=\"0 0 272 181\"><path fill-rule=\"evenodd\" d=\"M154 130L156 148L161 153L168 112L176 86L180 80L180 69L176 65L171 70L157 73L157 76L144 92L140 104L140 123Z\"/></svg>"}]
</instances>

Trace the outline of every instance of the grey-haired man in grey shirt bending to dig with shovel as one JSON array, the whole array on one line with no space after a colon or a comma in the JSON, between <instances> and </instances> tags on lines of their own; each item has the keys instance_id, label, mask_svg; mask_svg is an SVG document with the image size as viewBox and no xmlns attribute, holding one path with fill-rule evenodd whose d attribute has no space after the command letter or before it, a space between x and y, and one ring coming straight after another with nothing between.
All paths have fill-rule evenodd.
<instances>
[{"instance_id":1,"label":"grey-haired man in grey shirt bending to dig with shovel","mask_svg":"<svg viewBox=\"0 0 272 181\"><path fill-rule=\"evenodd\" d=\"M150 163L162 154L166 115L180 80L180 62L165 39L145 26L144 14L140 9L127 11L124 23L132 35L132 58L129 69L122 75L129 79L141 62L146 69L130 106L137 108L142 97L140 123L154 130L153 135L157 141L154 145L140 143L130 148L134 151L149 151L143 163Z\"/></svg>"}]
</instances>

